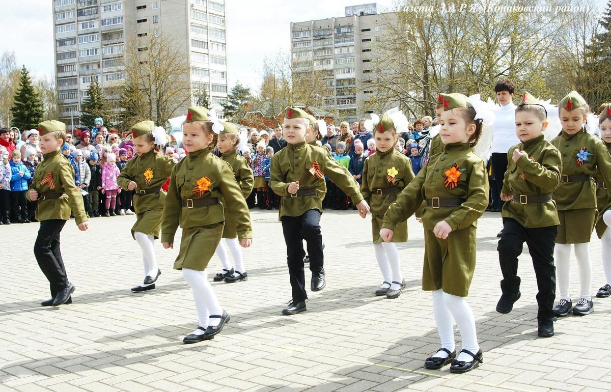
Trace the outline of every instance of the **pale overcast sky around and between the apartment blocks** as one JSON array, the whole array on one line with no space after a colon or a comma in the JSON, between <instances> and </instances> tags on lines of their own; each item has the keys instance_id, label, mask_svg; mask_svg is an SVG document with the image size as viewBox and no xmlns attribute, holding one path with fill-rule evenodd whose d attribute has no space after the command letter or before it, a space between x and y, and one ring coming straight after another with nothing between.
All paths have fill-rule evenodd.
<instances>
[{"instance_id":1,"label":"pale overcast sky around and between the apartment blocks","mask_svg":"<svg viewBox=\"0 0 611 392\"><path fill-rule=\"evenodd\" d=\"M603 6L606 0L595 0ZM290 23L344 16L346 5L367 1L226 0L229 87L236 81L257 89L263 60L288 51ZM378 13L393 0L378 1ZM508 2L509 3L509 2ZM0 53L15 51L17 64L35 75L54 76L53 0L0 0ZM571 2L567 4L580 4Z\"/></svg>"}]
</instances>

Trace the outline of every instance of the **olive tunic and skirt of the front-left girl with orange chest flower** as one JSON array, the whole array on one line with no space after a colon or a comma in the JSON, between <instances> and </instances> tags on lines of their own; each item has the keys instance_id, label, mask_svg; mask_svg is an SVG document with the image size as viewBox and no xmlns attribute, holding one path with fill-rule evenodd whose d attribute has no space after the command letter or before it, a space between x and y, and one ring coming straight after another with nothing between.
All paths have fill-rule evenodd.
<instances>
[{"instance_id":1,"label":"olive tunic and skirt of the front-left girl with orange chest flower","mask_svg":"<svg viewBox=\"0 0 611 392\"><path fill-rule=\"evenodd\" d=\"M188 207L197 199L221 197L222 203ZM183 206L183 201L186 206ZM235 218L238 238L252 238L248 206L227 162L211 154L210 148L204 148L189 153L175 165L164 204L161 229L161 241L170 243L174 243L178 225L183 229L175 269L206 269L221 241L224 205Z\"/></svg>"}]
</instances>

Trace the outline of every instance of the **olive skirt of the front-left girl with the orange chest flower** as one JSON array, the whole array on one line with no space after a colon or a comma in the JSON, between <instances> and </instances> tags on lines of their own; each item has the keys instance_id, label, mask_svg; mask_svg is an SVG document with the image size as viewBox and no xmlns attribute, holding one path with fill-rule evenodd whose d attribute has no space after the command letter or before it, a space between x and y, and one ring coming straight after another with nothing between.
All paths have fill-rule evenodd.
<instances>
[{"instance_id":1,"label":"olive skirt of the front-left girl with the orange chest flower","mask_svg":"<svg viewBox=\"0 0 611 392\"><path fill-rule=\"evenodd\" d=\"M194 269L203 271L221 242L223 222L206 226L183 228L180 250L174 261L174 269Z\"/></svg>"}]
</instances>

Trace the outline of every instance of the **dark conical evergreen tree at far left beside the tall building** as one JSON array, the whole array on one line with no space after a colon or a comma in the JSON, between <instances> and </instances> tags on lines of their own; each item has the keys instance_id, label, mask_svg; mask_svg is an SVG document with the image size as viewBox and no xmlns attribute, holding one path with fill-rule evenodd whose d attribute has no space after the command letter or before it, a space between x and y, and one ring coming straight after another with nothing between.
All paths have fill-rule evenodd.
<instances>
[{"instance_id":1,"label":"dark conical evergreen tree at far left beside the tall building","mask_svg":"<svg viewBox=\"0 0 611 392\"><path fill-rule=\"evenodd\" d=\"M32 78L24 65L21 68L19 88L14 97L15 104L10 109L13 115L13 123L19 129L37 128L42 121L43 106L40 96L34 90Z\"/></svg>"}]
</instances>

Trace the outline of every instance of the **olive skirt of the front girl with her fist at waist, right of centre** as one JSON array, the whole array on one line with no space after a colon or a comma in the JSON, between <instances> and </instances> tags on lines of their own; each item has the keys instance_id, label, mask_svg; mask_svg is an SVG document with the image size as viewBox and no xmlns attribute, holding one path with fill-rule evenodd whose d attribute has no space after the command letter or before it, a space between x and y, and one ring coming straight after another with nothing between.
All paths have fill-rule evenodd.
<instances>
[{"instance_id":1,"label":"olive skirt of the front girl with her fist at waist, right of centre","mask_svg":"<svg viewBox=\"0 0 611 392\"><path fill-rule=\"evenodd\" d=\"M475 271L477 228L452 231L447 239L437 238L433 230L424 231L424 266L422 289L442 289L448 294L466 297Z\"/></svg>"}]
</instances>

